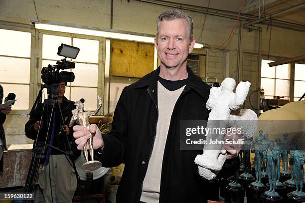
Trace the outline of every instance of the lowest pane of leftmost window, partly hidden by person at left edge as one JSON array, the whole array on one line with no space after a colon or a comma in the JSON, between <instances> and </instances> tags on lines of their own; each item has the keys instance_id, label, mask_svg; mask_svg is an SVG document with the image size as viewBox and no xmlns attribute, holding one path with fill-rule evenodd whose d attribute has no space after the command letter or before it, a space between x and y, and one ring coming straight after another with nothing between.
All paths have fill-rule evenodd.
<instances>
[{"instance_id":1,"label":"lowest pane of leftmost window, partly hidden by person at left edge","mask_svg":"<svg viewBox=\"0 0 305 203\"><path fill-rule=\"evenodd\" d=\"M12 105L12 109L28 109L29 108L29 85L1 84L3 87L3 97L7 97L8 93L13 92L18 101ZM3 99L4 102L4 99Z\"/></svg>"}]
</instances>

